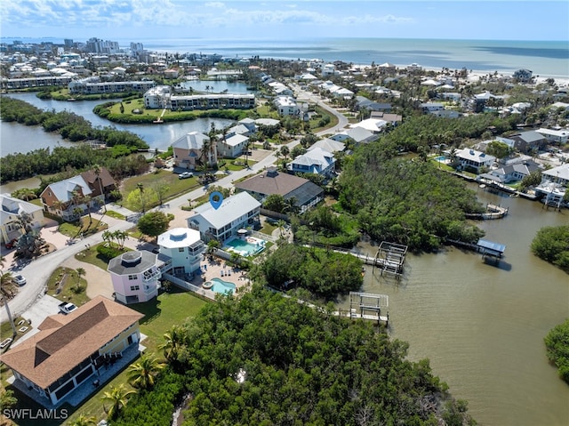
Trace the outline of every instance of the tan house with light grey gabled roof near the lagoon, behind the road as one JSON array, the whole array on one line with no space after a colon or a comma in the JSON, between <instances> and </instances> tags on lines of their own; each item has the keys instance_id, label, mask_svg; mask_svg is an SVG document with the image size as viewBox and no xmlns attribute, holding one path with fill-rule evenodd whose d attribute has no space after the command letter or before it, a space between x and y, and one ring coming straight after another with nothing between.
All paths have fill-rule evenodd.
<instances>
[{"instance_id":1,"label":"tan house with light grey gabled roof near the lagoon, behind the road","mask_svg":"<svg viewBox=\"0 0 569 426\"><path fill-rule=\"evenodd\" d=\"M204 163L212 166L217 163L217 145L212 144L204 133L186 133L172 143L172 150L176 167L196 170L196 165Z\"/></svg>"}]
</instances>

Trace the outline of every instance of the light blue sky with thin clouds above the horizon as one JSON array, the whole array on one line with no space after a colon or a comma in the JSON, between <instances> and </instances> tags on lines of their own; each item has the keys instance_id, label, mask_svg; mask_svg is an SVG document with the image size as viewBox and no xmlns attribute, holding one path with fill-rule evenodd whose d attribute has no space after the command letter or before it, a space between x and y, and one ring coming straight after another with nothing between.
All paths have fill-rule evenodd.
<instances>
[{"instance_id":1,"label":"light blue sky with thin clouds above the horizon","mask_svg":"<svg viewBox=\"0 0 569 426\"><path fill-rule=\"evenodd\" d=\"M569 40L569 2L0 0L0 36Z\"/></svg>"}]
</instances>

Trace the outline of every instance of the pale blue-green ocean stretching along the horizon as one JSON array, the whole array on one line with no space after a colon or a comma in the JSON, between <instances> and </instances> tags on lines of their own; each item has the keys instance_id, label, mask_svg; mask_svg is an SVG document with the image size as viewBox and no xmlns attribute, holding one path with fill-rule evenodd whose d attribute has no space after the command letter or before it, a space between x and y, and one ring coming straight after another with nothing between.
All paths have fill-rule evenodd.
<instances>
[{"instance_id":1,"label":"pale blue-green ocean stretching along the horizon","mask_svg":"<svg viewBox=\"0 0 569 426\"><path fill-rule=\"evenodd\" d=\"M2 42L12 44L12 39ZM25 39L40 43L42 39ZM63 39L44 41L62 44ZM79 41L79 40L76 40ZM403 38L303 38L303 39L214 39L214 38L141 38L115 40L127 48L138 42L154 52L218 53L224 57L275 59L343 60L369 65L390 62L398 67L418 63L424 68L467 68L474 71L509 74L520 68L534 76L569 78L569 40L447 40Z\"/></svg>"}]
</instances>

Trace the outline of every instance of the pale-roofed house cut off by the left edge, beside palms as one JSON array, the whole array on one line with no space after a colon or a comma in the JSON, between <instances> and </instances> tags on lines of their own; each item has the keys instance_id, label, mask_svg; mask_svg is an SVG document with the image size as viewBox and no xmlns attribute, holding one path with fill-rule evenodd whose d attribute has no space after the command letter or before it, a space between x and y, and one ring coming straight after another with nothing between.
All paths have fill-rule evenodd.
<instances>
[{"instance_id":1,"label":"pale-roofed house cut off by the left edge, beside palms","mask_svg":"<svg viewBox=\"0 0 569 426\"><path fill-rule=\"evenodd\" d=\"M24 214L28 215L32 229L44 226L42 207L10 197L8 194L0 194L0 243L9 243L26 232L20 222Z\"/></svg>"}]
</instances>

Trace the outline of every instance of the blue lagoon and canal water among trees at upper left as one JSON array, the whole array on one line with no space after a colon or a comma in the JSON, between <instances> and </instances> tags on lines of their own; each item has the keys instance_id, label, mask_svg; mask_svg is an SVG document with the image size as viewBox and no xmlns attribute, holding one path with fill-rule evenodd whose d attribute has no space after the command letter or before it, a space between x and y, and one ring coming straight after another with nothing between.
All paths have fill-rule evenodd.
<instances>
[{"instance_id":1,"label":"blue lagoon and canal water among trees at upper left","mask_svg":"<svg viewBox=\"0 0 569 426\"><path fill-rule=\"evenodd\" d=\"M228 90L232 93L248 92L243 83L228 83L225 81L199 81L191 80L183 83L188 88L191 86L196 91L205 91L209 85L212 87L210 92L222 92ZM108 100L77 100L75 102L61 100L41 100L36 97L34 92L10 93L15 99L25 100L39 109L55 110L56 112L68 110L78 116L84 117L93 127L113 126L118 130L132 132L146 141L150 148L165 150L172 142L176 141L188 132L210 131L212 123L216 128L221 129L231 124L231 120L221 118L197 118L196 120L164 123L161 125L122 125L111 123L106 119L100 118L92 112L95 106ZM45 133L41 127L27 127L17 123L0 124L0 154L4 157L7 154L16 152L28 152L38 148L52 148L57 145L69 146L71 142L64 142L59 135Z\"/></svg>"}]
</instances>

